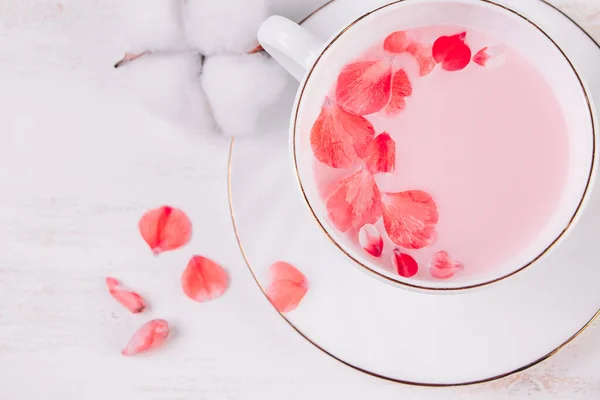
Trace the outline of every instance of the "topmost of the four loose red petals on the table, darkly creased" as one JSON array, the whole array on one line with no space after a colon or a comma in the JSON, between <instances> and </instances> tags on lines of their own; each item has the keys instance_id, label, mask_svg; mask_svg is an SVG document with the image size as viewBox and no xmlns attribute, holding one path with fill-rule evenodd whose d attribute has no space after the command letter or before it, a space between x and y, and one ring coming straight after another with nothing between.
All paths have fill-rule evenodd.
<instances>
[{"instance_id":1,"label":"topmost of the four loose red petals on the table, darkly creased","mask_svg":"<svg viewBox=\"0 0 600 400\"><path fill-rule=\"evenodd\" d=\"M192 237L190 219L183 211L169 206L155 208L144 214L139 229L154 254L177 249Z\"/></svg>"}]
</instances>

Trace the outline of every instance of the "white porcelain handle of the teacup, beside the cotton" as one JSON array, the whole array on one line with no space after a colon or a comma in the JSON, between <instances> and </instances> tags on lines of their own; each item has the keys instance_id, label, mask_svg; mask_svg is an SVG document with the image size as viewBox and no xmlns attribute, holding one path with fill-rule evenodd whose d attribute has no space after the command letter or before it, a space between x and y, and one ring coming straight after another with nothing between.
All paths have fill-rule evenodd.
<instances>
[{"instance_id":1,"label":"white porcelain handle of the teacup, beside the cotton","mask_svg":"<svg viewBox=\"0 0 600 400\"><path fill-rule=\"evenodd\" d=\"M287 18L269 17L258 30L258 41L283 68L301 81L323 47L323 41Z\"/></svg>"}]
</instances>

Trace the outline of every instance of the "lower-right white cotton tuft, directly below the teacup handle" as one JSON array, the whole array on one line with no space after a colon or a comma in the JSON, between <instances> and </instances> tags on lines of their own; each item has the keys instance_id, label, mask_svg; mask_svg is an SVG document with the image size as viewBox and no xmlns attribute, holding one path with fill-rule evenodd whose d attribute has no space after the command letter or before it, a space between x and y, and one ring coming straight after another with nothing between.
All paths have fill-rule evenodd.
<instances>
[{"instance_id":1,"label":"lower-right white cotton tuft, directly below the teacup handle","mask_svg":"<svg viewBox=\"0 0 600 400\"><path fill-rule=\"evenodd\" d=\"M254 133L261 111L287 82L288 74L262 54L209 57L202 72L202 87L226 136Z\"/></svg>"}]
</instances>

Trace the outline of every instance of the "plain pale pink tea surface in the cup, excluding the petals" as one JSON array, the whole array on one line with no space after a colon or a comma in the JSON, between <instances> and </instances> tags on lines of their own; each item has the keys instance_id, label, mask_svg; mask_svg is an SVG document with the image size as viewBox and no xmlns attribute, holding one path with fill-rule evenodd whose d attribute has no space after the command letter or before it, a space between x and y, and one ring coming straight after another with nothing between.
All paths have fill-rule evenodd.
<instances>
[{"instance_id":1,"label":"plain pale pink tea surface in the cup, excluding the petals","mask_svg":"<svg viewBox=\"0 0 600 400\"><path fill-rule=\"evenodd\" d=\"M435 38L460 31L430 27L419 33ZM473 54L501 44L472 30L466 43ZM404 251L419 263L419 278L432 279L426 266L440 250L465 264L462 276L499 268L537 237L560 201L569 162L562 109L536 68L503 47L506 61L500 68L471 62L448 72L438 65L425 77L412 57L400 56L397 68L405 69L413 86L406 109L396 117L367 116L377 134L386 131L396 141L396 171L376 176L380 189L425 190L439 207L435 241ZM378 44L361 58L382 55ZM349 173L315 162L324 198ZM376 226L385 232L381 220ZM373 261L393 270L392 250L398 246L383 237L384 253ZM356 235L349 239L363 251Z\"/></svg>"}]
</instances>

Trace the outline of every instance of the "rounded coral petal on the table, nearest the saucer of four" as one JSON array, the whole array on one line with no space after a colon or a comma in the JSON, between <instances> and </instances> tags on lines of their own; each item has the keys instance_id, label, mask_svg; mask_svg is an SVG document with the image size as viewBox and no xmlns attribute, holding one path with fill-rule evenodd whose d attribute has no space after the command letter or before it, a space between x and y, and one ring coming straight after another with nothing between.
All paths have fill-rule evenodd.
<instances>
[{"instance_id":1,"label":"rounded coral petal on the table, nearest the saucer of four","mask_svg":"<svg viewBox=\"0 0 600 400\"><path fill-rule=\"evenodd\" d=\"M219 298L229 287L229 275L216 262L193 256L181 276L183 292L192 300L205 302Z\"/></svg>"}]
</instances>

